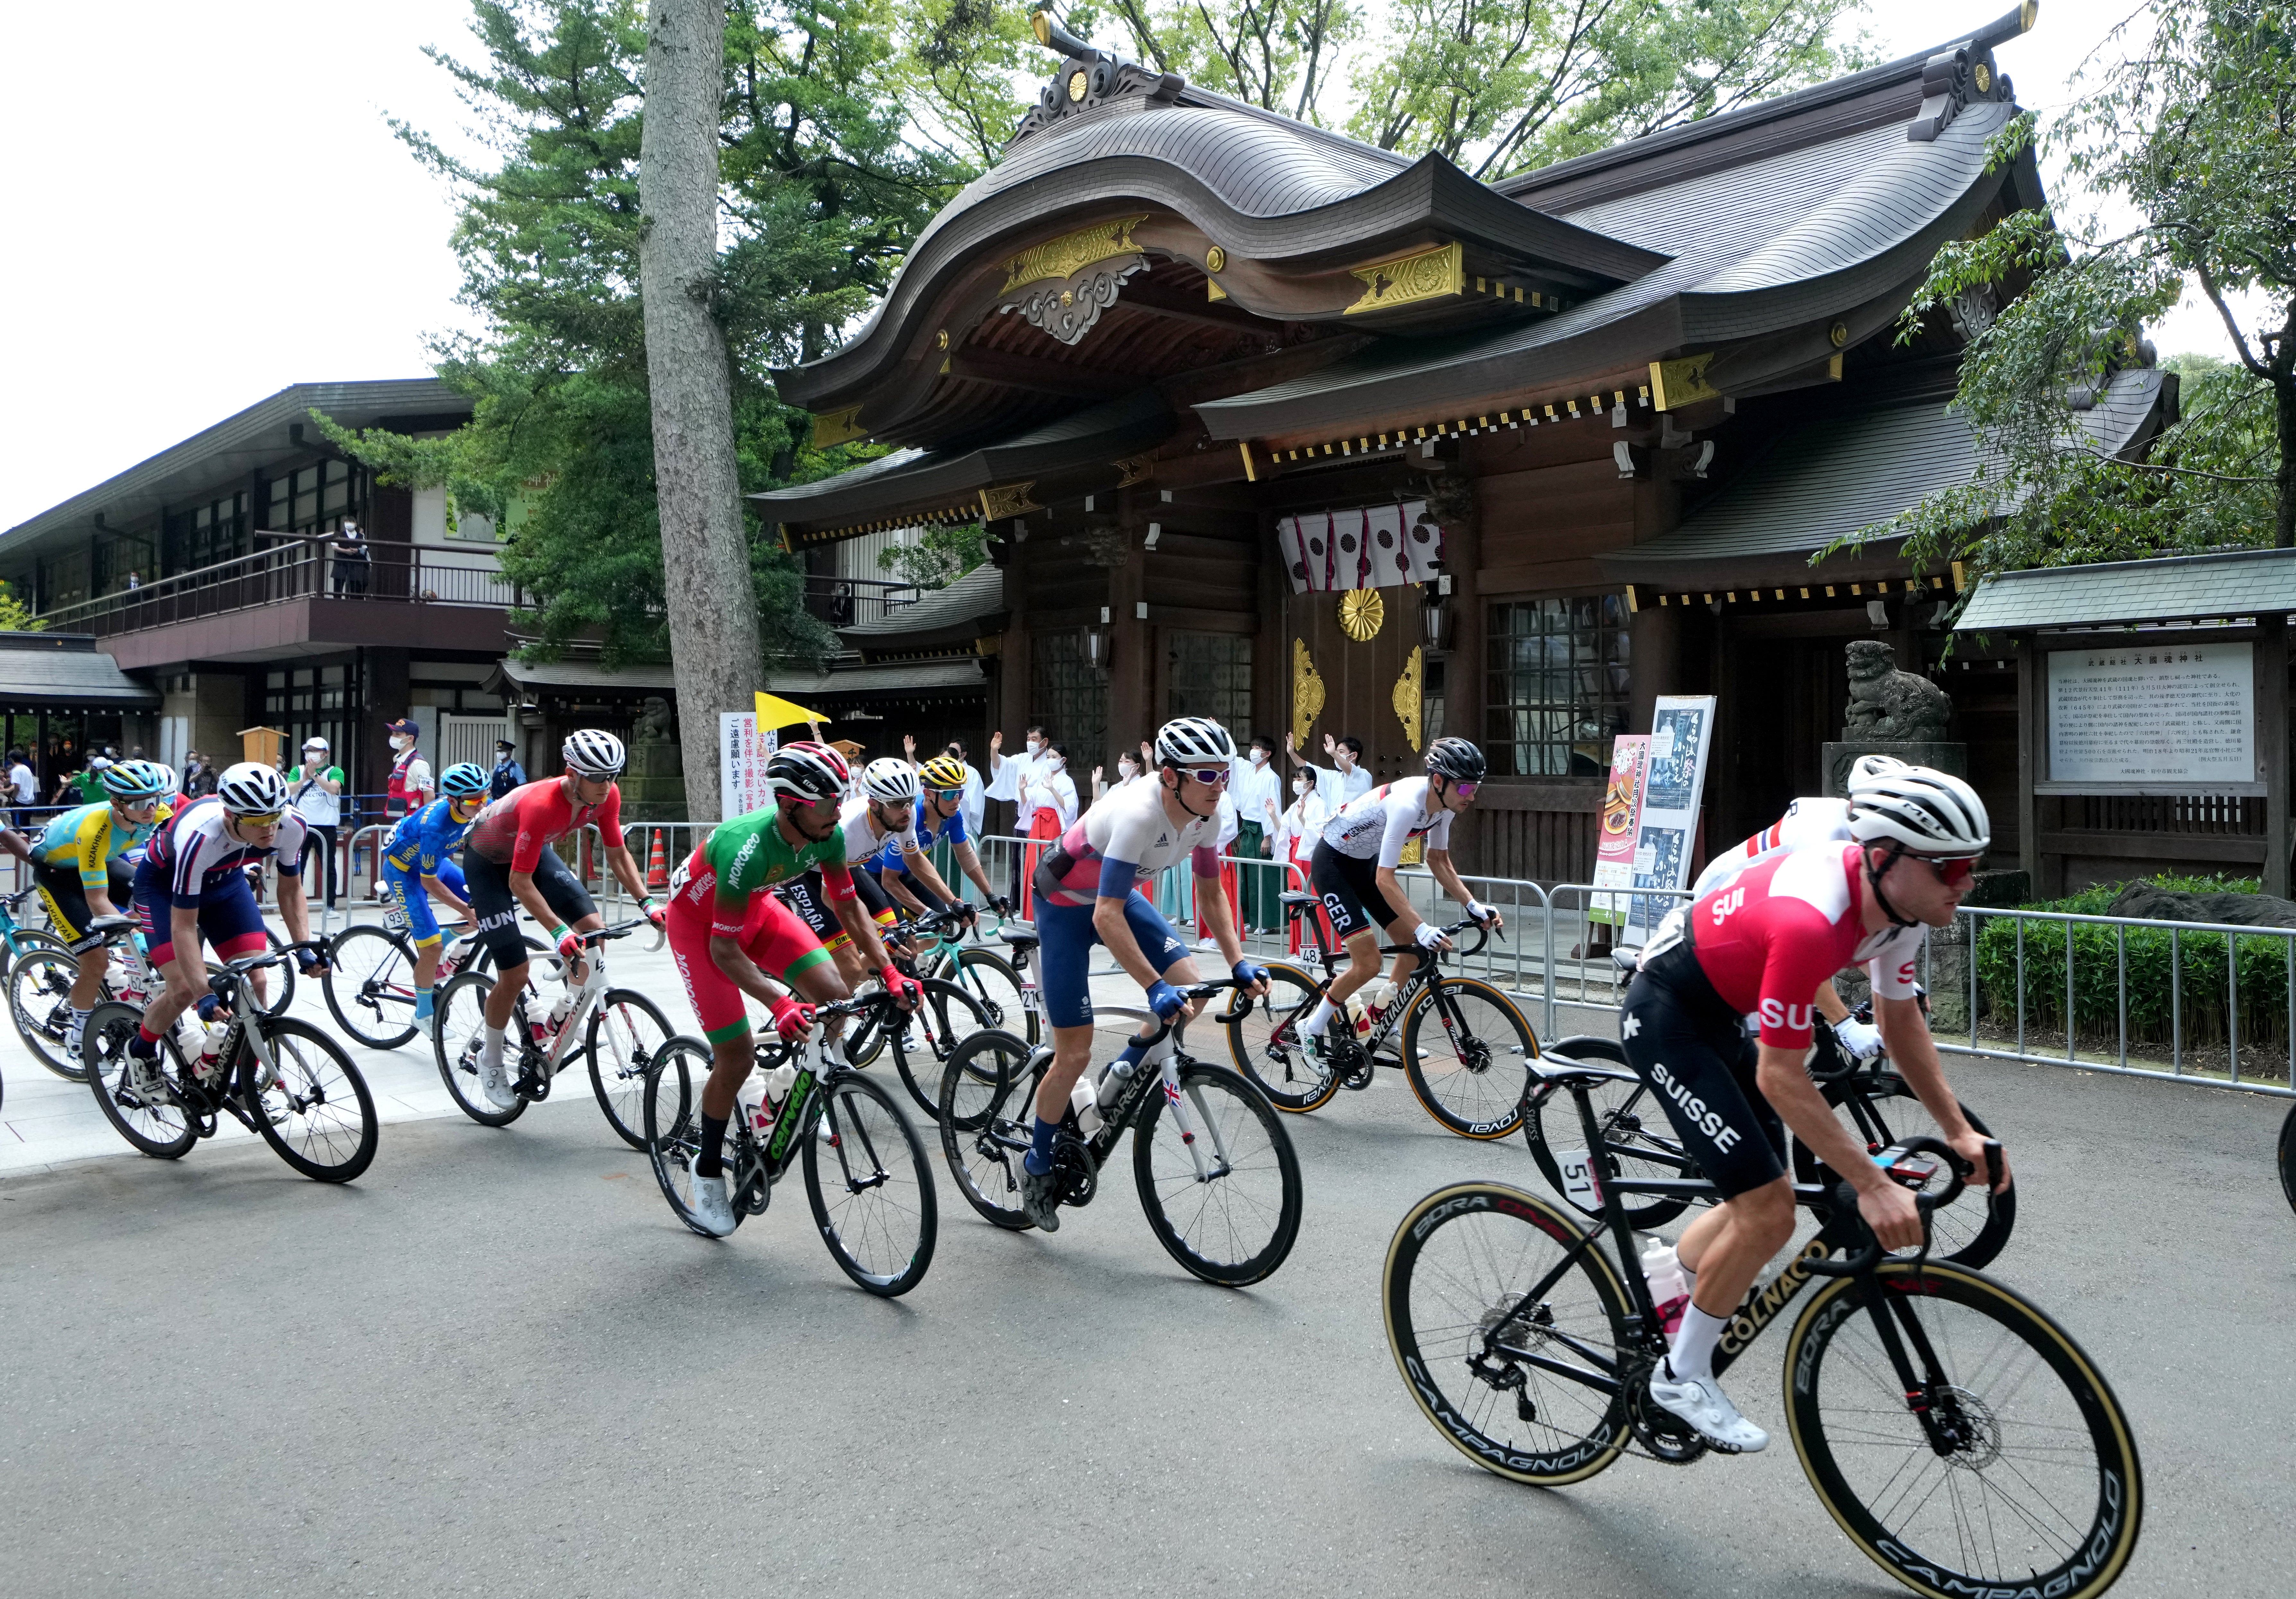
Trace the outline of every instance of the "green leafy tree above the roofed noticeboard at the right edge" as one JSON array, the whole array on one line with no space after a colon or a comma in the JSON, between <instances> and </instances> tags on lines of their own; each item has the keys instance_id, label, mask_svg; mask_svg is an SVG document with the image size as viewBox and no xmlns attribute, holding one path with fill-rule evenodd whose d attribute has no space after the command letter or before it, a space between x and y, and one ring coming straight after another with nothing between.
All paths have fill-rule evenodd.
<instances>
[{"instance_id":1,"label":"green leafy tree above the roofed noticeboard at the right edge","mask_svg":"<svg viewBox=\"0 0 2296 1599\"><path fill-rule=\"evenodd\" d=\"M2030 115L2002 131L1995 165L2048 149L2099 214L2018 211L1938 253L1901 331L1945 312L1977 329L1956 404L1986 453L1970 485L1857 540L1903 535L1917 565L1977 572L2296 544L2291 25L2285 2L2156 0L2046 131ZM2170 361L2181 420L2142 457L2110 459L2082 407L2147 358L2140 329L2186 283L2236 361Z\"/></svg>"}]
</instances>

